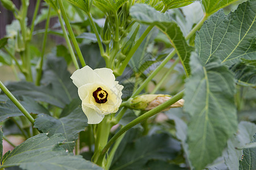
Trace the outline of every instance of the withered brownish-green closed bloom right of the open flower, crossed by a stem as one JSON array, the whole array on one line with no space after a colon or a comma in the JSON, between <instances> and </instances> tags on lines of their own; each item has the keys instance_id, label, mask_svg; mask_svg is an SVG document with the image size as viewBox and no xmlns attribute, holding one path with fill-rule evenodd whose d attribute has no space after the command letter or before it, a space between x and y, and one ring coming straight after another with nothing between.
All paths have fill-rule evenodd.
<instances>
[{"instance_id":1,"label":"withered brownish-green closed bloom right of the open flower, crossed by a stem","mask_svg":"<svg viewBox=\"0 0 256 170\"><path fill-rule=\"evenodd\" d=\"M141 95L137 96L130 101L129 107L132 109L139 109L142 111L150 111L154 109L158 105L164 103L165 101L171 99L170 95ZM172 104L170 107L164 109L164 111L168 111L170 108L179 108L183 107L184 100L180 99L176 103Z\"/></svg>"}]
</instances>

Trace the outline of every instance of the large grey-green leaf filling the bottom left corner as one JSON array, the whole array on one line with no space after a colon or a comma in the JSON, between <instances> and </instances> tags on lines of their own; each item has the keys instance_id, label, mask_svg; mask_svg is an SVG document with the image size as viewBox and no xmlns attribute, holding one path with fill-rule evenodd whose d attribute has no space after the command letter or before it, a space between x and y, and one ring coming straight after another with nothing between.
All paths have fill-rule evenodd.
<instances>
[{"instance_id":1,"label":"large grey-green leaf filling the bottom left corner","mask_svg":"<svg viewBox=\"0 0 256 170\"><path fill-rule=\"evenodd\" d=\"M101 169L81 156L66 152L59 146L64 140L61 134L50 138L47 134L39 134L29 138L3 156L0 168L19 166L28 170Z\"/></svg>"}]
</instances>

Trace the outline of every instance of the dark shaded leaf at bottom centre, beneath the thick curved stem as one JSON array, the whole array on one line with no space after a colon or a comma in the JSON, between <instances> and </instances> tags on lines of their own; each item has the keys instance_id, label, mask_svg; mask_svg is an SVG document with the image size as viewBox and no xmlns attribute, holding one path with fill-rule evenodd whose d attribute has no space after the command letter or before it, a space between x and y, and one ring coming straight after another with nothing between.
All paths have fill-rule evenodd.
<instances>
[{"instance_id":1,"label":"dark shaded leaf at bottom centre, beneath the thick curved stem","mask_svg":"<svg viewBox=\"0 0 256 170\"><path fill-rule=\"evenodd\" d=\"M180 143L167 134L146 136L129 143L111 168L142 169L149 160L174 159L180 150Z\"/></svg>"}]
</instances>

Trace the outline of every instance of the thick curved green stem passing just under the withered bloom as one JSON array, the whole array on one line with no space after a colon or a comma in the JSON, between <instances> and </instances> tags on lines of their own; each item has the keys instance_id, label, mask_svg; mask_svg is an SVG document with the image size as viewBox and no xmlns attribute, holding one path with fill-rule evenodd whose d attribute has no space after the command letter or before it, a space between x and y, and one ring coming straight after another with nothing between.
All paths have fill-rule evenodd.
<instances>
[{"instance_id":1,"label":"thick curved green stem passing just under the withered bloom","mask_svg":"<svg viewBox=\"0 0 256 170\"><path fill-rule=\"evenodd\" d=\"M171 99L167 100L163 104L160 104L158 107L155 107L154 109L142 114L141 116L135 118L135 120L131 121L129 124L124 126L122 129L120 129L106 144L106 146L103 148L100 157L104 157L106 152L109 150L109 147L116 141L123 133L125 133L127 130L131 129L133 126L139 124L140 122L146 120L147 118L154 116L155 114L163 111L165 108L169 107L170 105L174 104L176 101L180 100L183 97L184 90L173 96ZM99 158L100 159L100 158Z\"/></svg>"}]
</instances>

